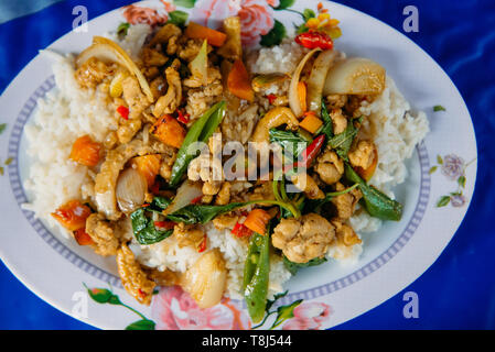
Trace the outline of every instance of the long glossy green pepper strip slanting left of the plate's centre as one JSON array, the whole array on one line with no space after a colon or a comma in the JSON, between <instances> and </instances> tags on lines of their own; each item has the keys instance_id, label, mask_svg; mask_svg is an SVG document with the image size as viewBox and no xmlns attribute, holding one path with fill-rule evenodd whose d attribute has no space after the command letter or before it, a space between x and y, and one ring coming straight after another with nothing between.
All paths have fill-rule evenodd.
<instances>
[{"instance_id":1,"label":"long glossy green pepper strip slanting left of the plate's centre","mask_svg":"<svg viewBox=\"0 0 495 352\"><path fill-rule=\"evenodd\" d=\"M207 142L213 135L218 124L225 116L225 102L218 102L208 111L206 111L187 131L187 134L182 142L182 146L177 152L175 163L172 167L172 176L170 178L170 186L176 187L179 182L187 169L189 163L197 156L189 151L189 147L197 142Z\"/></svg>"}]
</instances>

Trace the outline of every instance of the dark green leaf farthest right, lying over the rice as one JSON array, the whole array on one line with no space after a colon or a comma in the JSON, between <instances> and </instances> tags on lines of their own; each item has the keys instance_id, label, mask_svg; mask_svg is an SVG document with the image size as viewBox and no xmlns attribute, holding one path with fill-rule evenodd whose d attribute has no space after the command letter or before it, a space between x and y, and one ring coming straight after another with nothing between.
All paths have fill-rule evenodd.
<instances>
[{"instance_id":1,"label":"dark green leaf farthest right, lying over the rice","mask_svg":"<svg viewBox=\"0 0 495 352\"><path fill-rule=\"evenodd\" d=\"M395 221L401 219L402 205L390 199L375 187L368 186L347 163L345 163L345 177L349 182L359 185L359 189L363 193L363 206L372 217Z\"/></svg>"}]
</instances>

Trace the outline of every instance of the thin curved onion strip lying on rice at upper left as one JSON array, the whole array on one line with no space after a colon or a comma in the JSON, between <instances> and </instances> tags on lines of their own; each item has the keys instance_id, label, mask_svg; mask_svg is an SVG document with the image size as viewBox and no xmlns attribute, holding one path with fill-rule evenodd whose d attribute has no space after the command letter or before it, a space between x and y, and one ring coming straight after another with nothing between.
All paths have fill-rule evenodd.
<instances>
[{"instance_id":1,"label":"thin curved onion strip lying on rice at upper left","mask_svg":"<svg viewBox=\"0 0 495 352\"><path fill-rule=\"evenodd\" d=\"M90 57L96 57L103 62L114 62L126 67L132 75L136 76L148 100L150 102L154 101L151 88L141 70L129 57L126 51L123 51L117 43L103 36L95 36L93 38L93 45L77 56L76 66L79 67Z\"/></svg>"}]
</instances>

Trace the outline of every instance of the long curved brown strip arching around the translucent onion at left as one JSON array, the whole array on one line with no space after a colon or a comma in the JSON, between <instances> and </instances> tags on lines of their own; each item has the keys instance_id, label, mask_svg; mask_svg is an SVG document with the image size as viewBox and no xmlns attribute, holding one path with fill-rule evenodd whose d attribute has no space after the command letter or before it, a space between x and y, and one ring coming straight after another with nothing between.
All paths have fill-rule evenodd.
<instances>
[{"instance_id":1,"label":"long curved brown strip arching around the translucent onion at left","mask_svg":"<svg viewBox=\"0 0 495 352\"><path fill-rule=\"evenodd\" d=\"M118 220L121 212L117 209L115 189L120 170L126 163L137 155L162 154L163 158L175 157L174 148L154 141L146 144L141 140L132 140L127 144L121 144L107 153L100 172L95 179L95 201L98 211L104 213L109 220Z\"/></svg>"}]
</instances>

